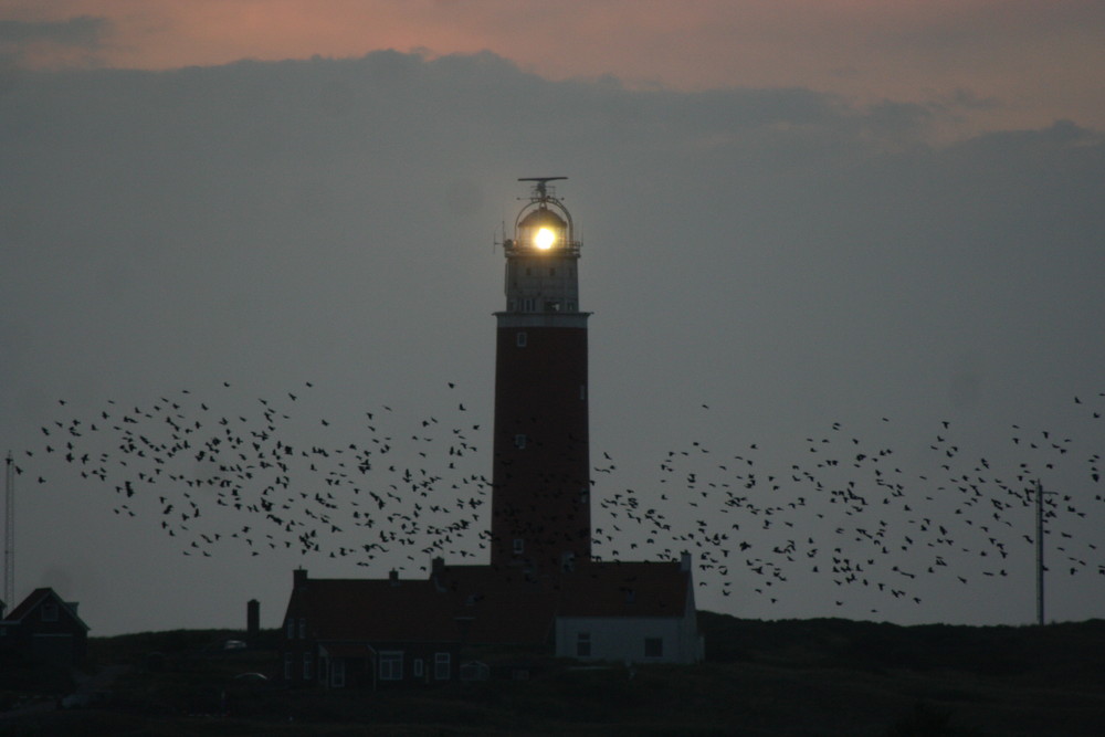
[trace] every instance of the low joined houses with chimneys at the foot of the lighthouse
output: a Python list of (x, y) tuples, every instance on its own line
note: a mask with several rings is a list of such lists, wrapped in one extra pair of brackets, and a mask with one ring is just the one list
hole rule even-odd
[(461, 656), (497, 650), (583, 661), (702, 660), (690, 556), (586, 562), (555, 575), (445, 566), (430, 577), (313, 579), (293, 573), (282, 676), (291, 686), (433, 685)]

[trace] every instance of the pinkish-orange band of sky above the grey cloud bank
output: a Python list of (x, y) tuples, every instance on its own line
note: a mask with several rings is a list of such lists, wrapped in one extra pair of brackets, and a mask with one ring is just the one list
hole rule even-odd
[[(1105, 4), (1094, 0), (56, 0), (0, 17), (103, 17), (107, 66), (493, 51), (551, 78), (631, 86), (807, 86), (857, 99), (967, 90), (1025, 122), (1105, 124)], [(55, 49), (53, 61), (72, 63)], [(85, 54), (86, 56), (87, 54)], [(82, 57), (83, 59), (83, 57)], [(49, 55), (36, 63), (49, 65)], [(1064, 110), (1066, 110), (1064, 113)]]

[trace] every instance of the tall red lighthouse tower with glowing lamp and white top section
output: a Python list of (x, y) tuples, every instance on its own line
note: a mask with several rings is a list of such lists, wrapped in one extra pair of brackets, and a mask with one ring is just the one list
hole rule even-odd
[(587, 318), (571, 215), (536, 177), (506, 255), (495, 313), (493, 566), (551, 571), (590, 560)]

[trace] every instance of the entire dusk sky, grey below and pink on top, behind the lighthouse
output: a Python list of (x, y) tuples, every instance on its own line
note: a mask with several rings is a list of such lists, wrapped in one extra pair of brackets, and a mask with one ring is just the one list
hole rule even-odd
[(566, 176), (599, 555), (687, 549), (738, 617), (1023, 624), (1041, 478), (1048, 618), (1102, 617), (1103, 40), (1096, 2), (0, 1), (17, 600), (274, 627), (296, 566), (478, 560), (497, 244)]

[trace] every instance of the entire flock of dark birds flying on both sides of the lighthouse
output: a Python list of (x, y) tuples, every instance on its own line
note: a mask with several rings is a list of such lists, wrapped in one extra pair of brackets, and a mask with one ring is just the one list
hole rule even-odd
[[(314, 392), (309, 382), (236, 412), (217, 410), (240, 400), (229, 383), (222, 391), (201, 400), (180, 390), (145, 407), (108, 401), (93, 415), (42, 427), (41, 446), (21, 463), (64, 460), (110, 493), (116, 514), (154, 516), (185, 555), (240, 545), (254, 556), (297, 550), (366, 567), (399, 558), (400, 568), (425, 570), (438, 555), (486, 561), (491, 483), (481, 468), (491, 463), (475, 444), (486, 431), (459, 397), (432, 415), (404, 420), (381, 404), (354, 422), (304, 419), (297, 410)], [(1075, 409), (1098, 420), (1092, 404), (1103, 397), (1075, 398)], [(920, 579), (962, 586), (1006, 577), (1011, 558), (1023, 568), (1035, 545), (1035, 484), (1063, 471), (1076, 488), (1044, 482), (1049, 568), (1105, 575), (1096, 540), (1064, 527), (1101, 512), (1097, 453), (1075, 457), (1071, 438), (1013, 425), (1020, 461), (1003, 467), (967, 453), (956, 430), (940, 423), (923, 472), (903, 471), (916, 468), (916, 457), (899, 463), (894, 450), (839, 422), (779, 467), (755, 443), (733, 453), (691, 442), (659, 460), (643, 491), (614, 488), (614, 459), (597, 454), (596, 557), (674, 559), (690, 550), (698, 583), (725, 597), (774, 603), (788, 581), (812, 575), (839, 587), (836, 606), (855, 588), (920, 603)], [(293, 440), (301, 435), (308, 440)], [(46, 473), (31, 475), (46, 483)]]

